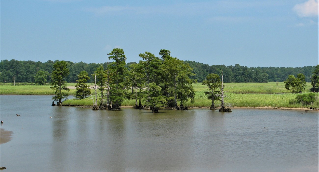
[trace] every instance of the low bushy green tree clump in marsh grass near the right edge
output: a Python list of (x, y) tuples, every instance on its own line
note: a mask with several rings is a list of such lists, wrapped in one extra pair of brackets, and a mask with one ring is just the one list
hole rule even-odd
[(305, 76), (302, 73), (297, 74), (297, 78), (289, 75), (288, 79), (284, 82), (287, 90), (292, 90), (292, 93), (300, 93), (306, 87)]

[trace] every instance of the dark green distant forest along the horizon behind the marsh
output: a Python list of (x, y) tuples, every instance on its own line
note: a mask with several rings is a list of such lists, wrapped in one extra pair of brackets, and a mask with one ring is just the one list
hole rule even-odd
[[(58, 60), (56, 60), (58, 61)], [(11, 59), (1, 60), (0, 62), (0, 82), (34, 82), (34, 76), (39, 70), (43, 70), (52, 73), (53, 64), (56, 61), (48, 60), (47, 62), (34, 62), (34, 61), (18, 61)], [(91, 77), (96, 68), (102, 65), (107, 68), (107, 63), (73, 63), (66, 61), (70, 74), (66, 78), (67, 82), (76, 82), (78, 74), (85, 70)], [(302, 73), (306, 77), (306, 82), (311, 82), (312, 72), (315, 66), (304, 66), (304, 67), (247, 67), (239, 64), (230, 65), (208, 65), (195, 61), (184, 61), (189, 63), (190, 67), (193, 68), (195, 76), (190, 77), (191, 79), (197, 79), (197, 82), (203, 82), (205, 77), (209, 73), (215, 73), (221, 76), (223, 70), (224, 82), (283, 82), (288, 78), (288, 75), (297, 76), (298, 73)], [(130, 70), (130, 64), (136, 62), (129, 62), (126, 67)], [(50, 82), (50, 76), (48, 76), (48, 82)], [(88, 82), (93, 82), (91, 77)]]

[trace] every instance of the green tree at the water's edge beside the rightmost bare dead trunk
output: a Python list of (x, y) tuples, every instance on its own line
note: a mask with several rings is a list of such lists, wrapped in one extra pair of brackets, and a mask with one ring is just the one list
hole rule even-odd
[(215, 73), (210, 73), (207, 75), (206, 80), (203, 81), (202, 85), (208, 86), (209, 91), (206, 91), (205, 94), (207, 95), (208, 99), (211, 99), (211, 110), (215, 110), (215, 100), (220, 99), (220, 90), (221, 88), (221, 80), (219, 75)]

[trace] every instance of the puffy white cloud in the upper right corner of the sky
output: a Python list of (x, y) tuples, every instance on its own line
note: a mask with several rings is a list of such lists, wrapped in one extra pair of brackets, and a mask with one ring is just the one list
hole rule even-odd
[(300, 17), (315, 17), (318, 16), (318, 0), (308, 0), (305, 3), (296, 4), (293, 10)]

